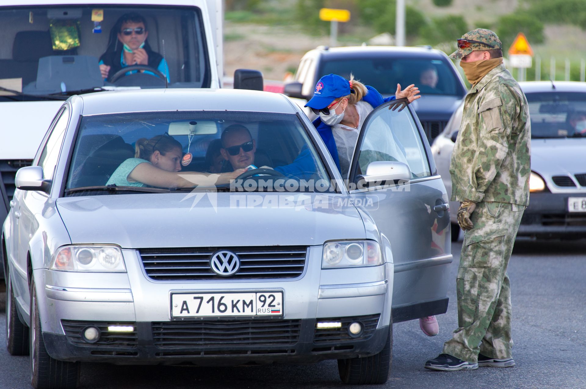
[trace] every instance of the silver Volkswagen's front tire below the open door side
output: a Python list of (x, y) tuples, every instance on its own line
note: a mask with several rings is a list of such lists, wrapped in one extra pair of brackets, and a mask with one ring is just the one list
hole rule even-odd
[(383, 349), (369, 357), (338, 359), (338, 373), (345, 384), (384, 384), (389, 380), (393, 359), (393, 321)]

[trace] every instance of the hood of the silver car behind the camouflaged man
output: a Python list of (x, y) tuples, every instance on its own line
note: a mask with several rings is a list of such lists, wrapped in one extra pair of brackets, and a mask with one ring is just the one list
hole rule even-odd
[(531, 170), (541, 175), (586, 173), (586, 139), (532, 139)]

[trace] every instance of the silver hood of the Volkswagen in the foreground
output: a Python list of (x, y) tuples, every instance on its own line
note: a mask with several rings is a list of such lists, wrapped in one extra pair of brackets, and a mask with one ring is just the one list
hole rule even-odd
[(322, 245), (326, 240), (366, 237), (356, 208), (333, 209), (338, 200), (346, 198), (344, 195), (225, 192), (199, 195), (203, 197), (186, 194), (68, 197), (57, 199), (57, 209), (71, 242), (113, 243), (123, 248), (311, 246)]

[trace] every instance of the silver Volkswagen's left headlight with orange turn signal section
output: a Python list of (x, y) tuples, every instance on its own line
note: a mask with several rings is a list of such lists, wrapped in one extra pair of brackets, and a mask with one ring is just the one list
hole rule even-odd
[(118, 246), (63, 246), (53, 254), (51, 270), (126, 273)]

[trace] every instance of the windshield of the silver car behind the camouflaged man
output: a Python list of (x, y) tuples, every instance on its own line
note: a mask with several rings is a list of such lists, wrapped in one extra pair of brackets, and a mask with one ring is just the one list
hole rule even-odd
[(586, 94), (527, 93), (532, 138), (586, 137)]

